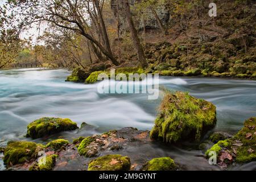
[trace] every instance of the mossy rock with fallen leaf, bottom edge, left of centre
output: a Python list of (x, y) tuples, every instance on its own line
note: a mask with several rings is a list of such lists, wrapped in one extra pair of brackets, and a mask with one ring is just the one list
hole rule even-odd
[(121, 155), (105, 155), (92, 160), (88, 171), (129, 171), (130, 158)]

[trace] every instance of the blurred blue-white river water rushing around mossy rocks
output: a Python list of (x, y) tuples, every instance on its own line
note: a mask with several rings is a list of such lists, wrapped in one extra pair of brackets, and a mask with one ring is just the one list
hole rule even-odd
[[(24, 137), (26, 126), (42, 117), (70, 118), (80, 126), (86, 122), (92, 130), (61, 133), (72, 141), (79, 136), (100, 134), (123, 127), (151, 130), (163, 98), (162, 88), (183, 90), (217, 106), (214, 131), (235, 134), (243, 121), (256, 116), (256, 81), (224, 78), (160, 77), (158, 100), (147, 94), (100, 94), (97, 85), (65, 82), (71, 72), (65, 69), (9, 69), (0, 71), (0, 146)], [(56, 137), (60, 137), (59, 135)], [(44, 139), (35, 142), (46, 143)], [(145, 154), (147, 148), (135, 151)], [(155, 156), (168, 155), (184, 169), (218, 169), (209, 166), (203, 152), (189, 148), (158, 146)], [(139, 156), (139, 155), (138, 155)], [(252, 162), (232, 169), (255, 169)], [(0, 169), (5, 169), (0, 159)]]

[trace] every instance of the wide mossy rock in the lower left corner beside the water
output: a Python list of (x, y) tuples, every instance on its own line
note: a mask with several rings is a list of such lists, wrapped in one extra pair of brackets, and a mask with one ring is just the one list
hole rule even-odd
[(35, 142), (9, 142), (5, 148), (3, 162), (7, 165), (22, 164), (32, 158), (35, 158), (37, 152), (40, 150), (43, 150), (42, 145), (38, 145)]

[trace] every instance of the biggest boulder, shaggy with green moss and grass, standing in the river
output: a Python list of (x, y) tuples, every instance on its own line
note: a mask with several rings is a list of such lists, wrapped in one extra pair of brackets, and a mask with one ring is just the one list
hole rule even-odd
[(150, 137), (166, 143), (199, 141), (215, 125), (216, 107), (213, 104), (188, 93), (167, 92)]

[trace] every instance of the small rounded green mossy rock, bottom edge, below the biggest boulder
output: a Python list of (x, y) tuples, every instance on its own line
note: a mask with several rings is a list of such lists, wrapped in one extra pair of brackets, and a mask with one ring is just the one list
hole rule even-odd
[(171, 158), (155, 158), (147, 162), (142, 170), (144, 171), (176, 171), (177, 167)]

